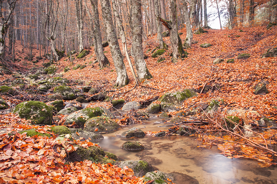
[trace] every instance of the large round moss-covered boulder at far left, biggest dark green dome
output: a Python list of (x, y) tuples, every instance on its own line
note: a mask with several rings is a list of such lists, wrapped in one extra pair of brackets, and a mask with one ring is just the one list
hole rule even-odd
[(22, 102), (12, 112), (14, 114), (18, 113), (20, 118), (31, 120), (33, 124), (52, 124), (52, 107), (40, 101)]

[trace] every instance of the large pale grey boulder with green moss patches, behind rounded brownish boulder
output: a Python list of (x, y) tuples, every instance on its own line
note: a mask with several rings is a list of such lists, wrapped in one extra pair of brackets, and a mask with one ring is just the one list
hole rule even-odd
[[(96, 116), (106, 116), (106, 117), (111, 117), (109, 116), (108, 110), (106, 110), (104, 108), (85, 108), (85, 109), (81, 109), (78, 110), (76, 112), (73, 112), (72, 114), (70, 114), (69, 116), (67, 116), (65, 118), (65, 122), (64, 124), (73, 124), (73, 122), (75, 122), (75, 124), (81, 128), (84, 127), (85, 122), (93, 117)], [(111, 113), (111, 112), (110, 112)]]

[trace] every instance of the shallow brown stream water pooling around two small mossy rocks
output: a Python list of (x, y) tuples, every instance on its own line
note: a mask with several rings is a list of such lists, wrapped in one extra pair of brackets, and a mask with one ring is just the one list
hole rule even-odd
[[(216, 147), (197, 148), (195, 137), (187, 136), (145, 136), (124, 138), (121, 133), (132, 127), (143, 131), (159, 131), (169, 127), (159, 123), (161, 119), (151, 118), (150, 122), (123, 127), (117, 131), (103, 134), (100, 146), (116, 154), (120, 160), (147, 160), (152, 166), (166, 173), (179, 172), (190, 175), (203, 184), (255, 183), (277, 184), (277, 167), (261, 168), (258, 162), (245, 159), (229, 159), (220, 155)], [(120, 146), (128, 140), (139, 141), (146, 147), (141, 151), (126, 151)]]

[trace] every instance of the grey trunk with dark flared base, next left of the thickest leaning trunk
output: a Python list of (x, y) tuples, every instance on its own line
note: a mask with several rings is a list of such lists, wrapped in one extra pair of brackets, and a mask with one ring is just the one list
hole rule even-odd
[[(100, 23), (99, 23), (99, 13), (98, 13), (98, 1), (97, 0), (90, 0), (91, 6), (93, 9), (93, 28), (94, 28), (94, 33), (96, 37), (96, 43), (97, 43), (97, 52), (99, 55), (98, 58), (98, 63), (99, 63), (99, 68), (104, 68), (110, 64), (108, 58), (104, 55), (103, 51), (103, 46), (102, 46), (102, 35), (100, 32)], [(111, 20), (112, 21), (112, 20)]]

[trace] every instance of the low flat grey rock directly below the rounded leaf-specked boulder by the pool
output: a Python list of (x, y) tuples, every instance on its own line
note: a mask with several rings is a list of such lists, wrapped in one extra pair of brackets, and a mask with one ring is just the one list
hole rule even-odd
[(90, 141), (97, 141), (100, 139), (104, 139), (103, 135), (100, 133), (94, 133), (94, 132), (88, 132), (84, 131), (83, 129), (74, 129), (70, 128), (70, 131), (72, 133), (72, 137), (75, 140), (79, 140), (80, 137), (82, 137), (82, 140), (86, 141), (89, 139)]

